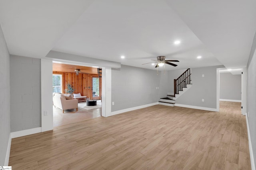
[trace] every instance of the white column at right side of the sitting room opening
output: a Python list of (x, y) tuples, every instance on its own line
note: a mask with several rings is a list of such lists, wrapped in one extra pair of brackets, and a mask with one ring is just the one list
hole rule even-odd
[(102, 116), (111, 116), (111, 68), (102, 67)]

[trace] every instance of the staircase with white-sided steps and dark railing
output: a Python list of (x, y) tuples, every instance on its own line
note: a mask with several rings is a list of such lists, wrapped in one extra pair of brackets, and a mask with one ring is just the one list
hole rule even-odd
[(166, 98), (161, 98), (159, 104), (166, 106), (175, 106), (175, 100), (191, 88), (190, 68), (182, 73), (177, 79), (174, 79), (174, 93), (168, 93)]

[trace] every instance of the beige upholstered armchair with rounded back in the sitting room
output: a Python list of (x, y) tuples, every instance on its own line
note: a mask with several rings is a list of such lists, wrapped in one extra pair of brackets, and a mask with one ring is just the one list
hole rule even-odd
[(54, 107), (58, 107), (62, 109), (62, 113), (66, 109), (76, 109), (78, 111), (78, 100), (77, 99), (69, 99), (68, 96), (64, 96), (61, 93), (54, 93), (53, 94), (53, 105)]

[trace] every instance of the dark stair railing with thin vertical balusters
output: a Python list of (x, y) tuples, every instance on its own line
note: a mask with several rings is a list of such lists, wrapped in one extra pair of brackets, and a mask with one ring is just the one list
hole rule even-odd
[(179, 94), (187, 84), (190, 84), (190, 68), (188, 68), (184, 73), (182, 73), (177, 79), (174, 79), (174, 97), (175, 94)]

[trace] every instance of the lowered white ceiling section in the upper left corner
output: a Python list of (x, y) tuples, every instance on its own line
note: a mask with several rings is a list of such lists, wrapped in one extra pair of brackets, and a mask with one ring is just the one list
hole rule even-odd
[(0, 24), (12, 55), (45, 57), (93, 0), (0, 0)]

